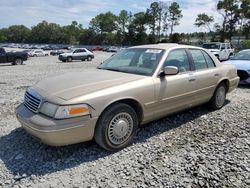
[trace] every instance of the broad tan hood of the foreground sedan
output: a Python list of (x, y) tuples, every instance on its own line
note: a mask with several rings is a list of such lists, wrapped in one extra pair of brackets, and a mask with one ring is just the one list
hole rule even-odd
[[(42, 90), (48, 97), (55, 96), (70, 100), (143, 78), (145, 76), (96, 69), (48, 77), (38, 82), (34, 88)], [(43, 97), (46, 98), (47, 96)]]

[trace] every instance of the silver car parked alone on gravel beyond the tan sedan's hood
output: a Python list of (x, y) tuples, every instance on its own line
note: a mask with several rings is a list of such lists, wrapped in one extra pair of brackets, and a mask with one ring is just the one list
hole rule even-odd
[(91, 61), (94, 58), (94, 54), (86, 48), (76, 48), (69, 52), (60, 54), (58, 59), (62, 62), (71, 62), (73, 60), (88, 60)]

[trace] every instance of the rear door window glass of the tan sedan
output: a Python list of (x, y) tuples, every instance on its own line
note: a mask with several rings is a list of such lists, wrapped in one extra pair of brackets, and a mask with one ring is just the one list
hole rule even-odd
[(207, 67), (207, 62), (206, 62), (201, 50), (190, 49), (189, 51), (190, 51), (190, 53), (192, 55), (196, 70), (201, 70), (201, 69), (207, 69), (208, 68)]

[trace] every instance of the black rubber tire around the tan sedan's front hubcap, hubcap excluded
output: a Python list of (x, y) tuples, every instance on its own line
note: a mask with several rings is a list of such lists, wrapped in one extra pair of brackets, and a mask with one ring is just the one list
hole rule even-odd
[[(130, 114), (130, 116), (132, 117), (133, 131), (130, 137), (124, 143), (120, 145), (115, 145), (109, 141), (108, 127), (113, 117), (122, 112), (126, 112)], [(134, 109), (127, 104), (116, 103), (110, 106), (107, 110), (105, 110), (103, 114), (101, 115), (100, 119), (98, 120), (96, 131), (95, 131), (95, 140), (100, 146), (102, 146), (103, 148), (107, 150), (118, 151), (120, 149), (127, 147), (128, 145), (132, 143), (133, 137), (136, 133), (137, 128), (138, 128), (138, 117)]]

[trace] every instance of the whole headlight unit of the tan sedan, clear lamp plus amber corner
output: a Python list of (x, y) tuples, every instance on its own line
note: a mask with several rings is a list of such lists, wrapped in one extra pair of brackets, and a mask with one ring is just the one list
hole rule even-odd
[(49, 102), (42, 105), (40, 112), (55, 119), (67, 119), (90, 114), (89, 107), (86, 104), (58, 106)]

